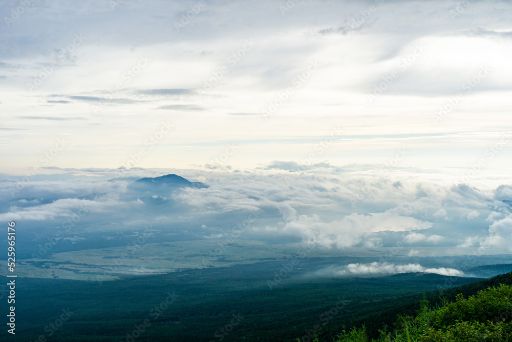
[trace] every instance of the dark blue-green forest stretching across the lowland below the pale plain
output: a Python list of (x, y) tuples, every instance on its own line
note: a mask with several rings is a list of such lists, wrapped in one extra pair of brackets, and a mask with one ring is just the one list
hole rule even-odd
[(102, 283), (17, 278), (16, 337), (200, 342), (312, 341), (317, 335), (332, 341), (356, 327), (371, 339), (385, 326), (392, 333), (399, 315), (414, 317), (424, 300), (436, 308), (458, 294), (512, 285), (510, 274), (482, 280), (408, 273), (300, 279), (270, 289), (268, 272), (262, 263)]

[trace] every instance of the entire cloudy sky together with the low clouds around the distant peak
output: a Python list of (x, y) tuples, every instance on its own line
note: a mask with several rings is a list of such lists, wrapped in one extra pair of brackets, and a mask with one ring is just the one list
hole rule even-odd
[[(508, 250), (507, 1), (0, 5), (3, 220)], [(127, 195), (167, 173), (210, 187)]]

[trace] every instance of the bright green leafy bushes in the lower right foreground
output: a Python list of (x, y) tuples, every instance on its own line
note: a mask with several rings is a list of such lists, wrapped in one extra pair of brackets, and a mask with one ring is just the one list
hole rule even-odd
[[(512, 342), (512, 286), (478, 291), (453, 303), (429, 308), (423, 300), (415, 317), (398, 316), (393, 332), (380, 331), (372, 342)], [(337, 342), (368, 342), (365, 327), (342, 331)]]

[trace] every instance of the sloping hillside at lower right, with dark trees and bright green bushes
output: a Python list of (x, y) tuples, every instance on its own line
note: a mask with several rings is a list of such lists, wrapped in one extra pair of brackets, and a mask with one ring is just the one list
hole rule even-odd
[[(424, 299), (416, 314), (408, 312), (412, 306), (366, 317), (373, 318), (373, 325), (382, 325), (379, 336), (371, 338), (365, 325), (343, 330), (337, 342), (462, 342), (462, 341), (512, 341), (512, 273), (450, 289), (434, 301)], [(458, 294), (457, 294), (458, 293)], [(396, 309), (394, 328), (386, 325)], [(372, 327), (374, 329), (374, 327)], [(318, 341), (318, 339), (315, 339)]]

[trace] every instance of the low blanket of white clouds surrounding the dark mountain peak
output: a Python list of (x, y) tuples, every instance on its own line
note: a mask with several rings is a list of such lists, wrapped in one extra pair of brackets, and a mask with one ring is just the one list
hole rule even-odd
[[(44, 231), (86, 213), (73, 224), (75, 231), (153, 225), (169, 233), (187, 230), (198, 237), (226, 238), (255, 214), (243, 238), (313, 242), (336, 250), (403, 247), (411, 248), (411, 255), (417, 253), (414, 247), (443, 247), (447, 253), (473, 248), (485, 254), (510, 248), (512, 218), (502, 186), (450, 185), (442, 178), (424, 180), (416, 171), (369, 170), (73, 169), (74, 175), (46, 176), (52, 180), (4, 176), (0, 218), (30, 222)], [(158, 193), (129, 187), (138, 178), (168, 173), (209, 187)]]

